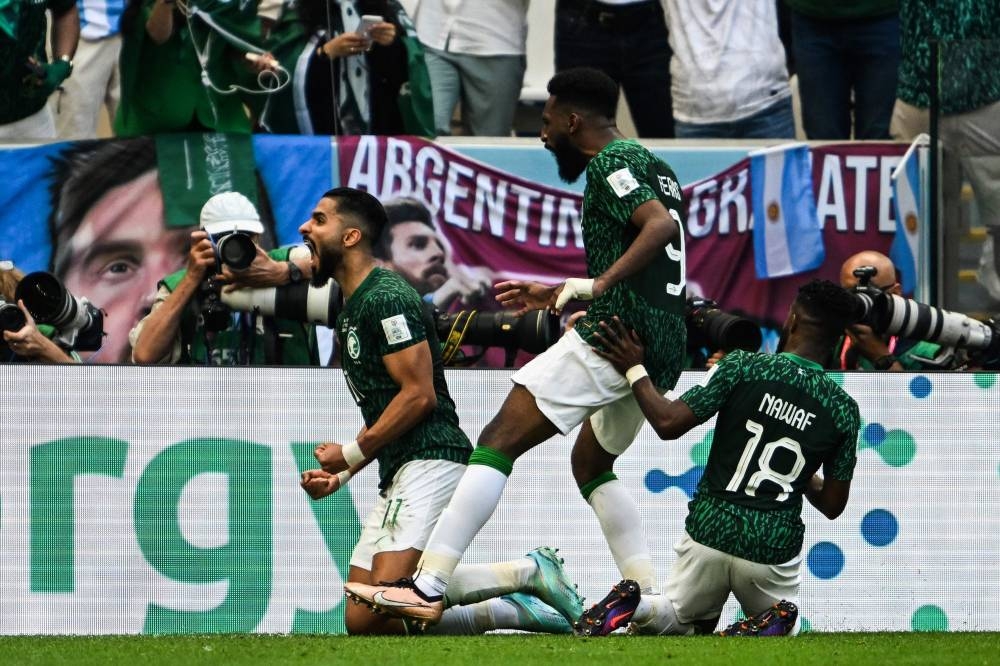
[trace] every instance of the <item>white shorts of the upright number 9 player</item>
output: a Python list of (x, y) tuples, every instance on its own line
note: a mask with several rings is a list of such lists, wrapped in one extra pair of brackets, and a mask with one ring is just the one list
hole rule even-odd
[(564, 435), (589, 417), (601, 448), (614, 455), (628, 449), (645, 421), (628, 381), (572, 329), (511, 380), (531, 391)]

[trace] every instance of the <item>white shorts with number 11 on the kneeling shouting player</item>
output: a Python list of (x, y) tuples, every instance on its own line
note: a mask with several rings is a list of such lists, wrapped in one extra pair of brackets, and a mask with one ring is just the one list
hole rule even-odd
[(423, 550), (464, 472), (465, 465), (450, 460), (411, 460), (400, 467), (365, 518), (351, 566), (371, 571), (376, 553)]

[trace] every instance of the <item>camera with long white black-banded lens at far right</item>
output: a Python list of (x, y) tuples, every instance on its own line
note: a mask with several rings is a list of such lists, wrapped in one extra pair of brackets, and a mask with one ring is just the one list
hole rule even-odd
[(989, 356), (1000, 353), (1000, 327), (995, 320), (983, 323), (958, 312), (888, 294), (871, 285), (877, 272), (874, 266), (854, 270), (858, 284), (852, 292), (857, 299), (859, 323), (883, 335), (975, 349)]

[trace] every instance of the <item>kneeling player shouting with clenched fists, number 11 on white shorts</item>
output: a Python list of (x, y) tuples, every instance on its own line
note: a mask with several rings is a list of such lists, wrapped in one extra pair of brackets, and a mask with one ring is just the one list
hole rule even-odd
[[(434, 326), (420, 297), (402, 277), (376, 265), (372, 245), (385, 224), (375, 197), (341, 187), (324, 194), (299, 229), (311, 251), (313, 284), (334, 278), (340, 285), (341, 365), (365, 422), (355, 441), (316, 448), (326, 470), (306, 471), (302, 487), (320, 499), (369, 461), (379, 463), (379, 499), (351, 555), (348, 580), (356, 583), (413, 574), (472, 448), (458, 427)], [(568, 633), (569, 621), (583, 610), (551, 548), (507, 563), (463, 567), (460, 578), (449, 595), (456, 607), (438, 628), (442, 632)], [(345, 623), (352, 634), (406, 630), (398, 619), (353, 604)]]

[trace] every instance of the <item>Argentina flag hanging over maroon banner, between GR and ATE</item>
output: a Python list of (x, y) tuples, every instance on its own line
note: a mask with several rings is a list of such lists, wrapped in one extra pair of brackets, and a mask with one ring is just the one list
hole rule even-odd
[(818, 268), (826, 252), (816, 216), (808, 146), (785, 144), (750, 153), (750, 195), (757, 278)]

